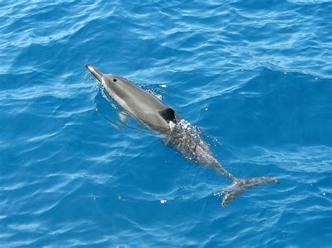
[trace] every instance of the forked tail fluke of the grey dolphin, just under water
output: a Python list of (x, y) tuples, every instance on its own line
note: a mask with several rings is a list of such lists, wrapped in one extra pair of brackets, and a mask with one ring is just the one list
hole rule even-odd
[(231, 200), (234, 200), (236, 196), (243, 194), (247, 189), (252, 189), (264, 184), (279, 184), (279, 182), (277, 178), (272, 177), (235, 179), (233, 180), (233, 184), (224, 191), (225, 196), (223, 196), (223, 202), (221, 205), (226, 207)]

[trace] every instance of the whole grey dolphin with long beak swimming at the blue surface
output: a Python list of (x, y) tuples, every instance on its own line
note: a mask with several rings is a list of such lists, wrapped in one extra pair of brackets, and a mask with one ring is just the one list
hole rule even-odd
[(109, 95), (130, 112), (135, 119), (164, 134), (167, 137), (165, 139), (167, 145), (177, 149), (186, 159), (212, 168), (233, 181), (233, 184), (224, 191), (225, 196), (221, 203), (223, 207), (226, 207), (230, 200), (234, 200), (236, 196), (244, 193), (247, 189), (262, 184), (279, 183), (276, 178), (271, 177), (237, 179), (216, 160), (209, 145), (200, 137), (195, 127), (180, 119), (172, 108), (125, 78), (103, 74), (89, 64), (85, 66), (109, 92)]

